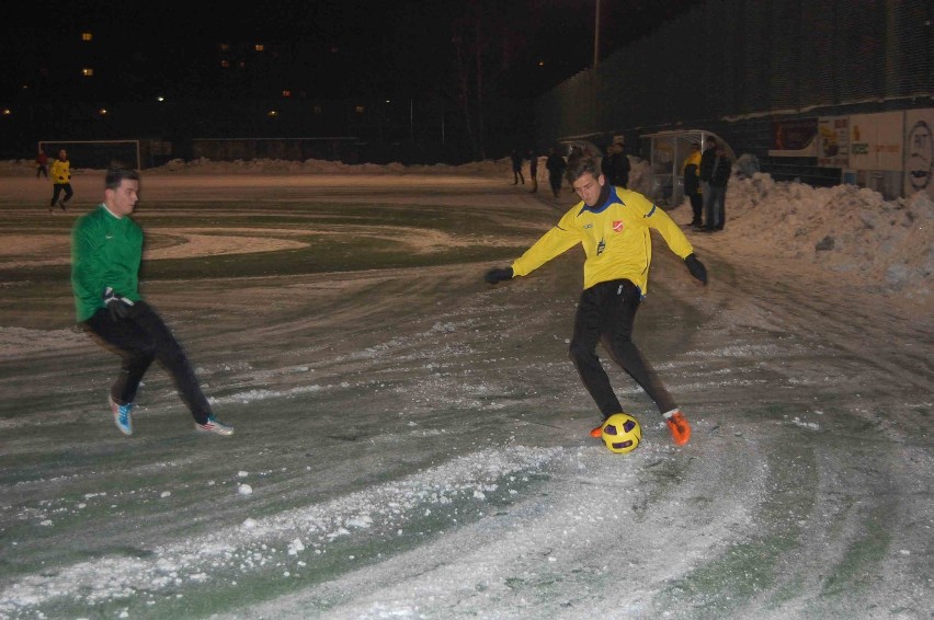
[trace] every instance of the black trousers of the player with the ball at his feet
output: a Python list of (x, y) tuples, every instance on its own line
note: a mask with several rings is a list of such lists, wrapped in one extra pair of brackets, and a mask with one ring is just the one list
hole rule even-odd
[(639, 287), (628, 279), (600, 283), (581, 294), (569, 354), (604, 418), (624, 410), (596, 356), (597, 343), (602, 343), (610, 357), (646, 390), (659, 407), (659, 413), (676, 406), (633, 342), (633, 323), (641, 297)]

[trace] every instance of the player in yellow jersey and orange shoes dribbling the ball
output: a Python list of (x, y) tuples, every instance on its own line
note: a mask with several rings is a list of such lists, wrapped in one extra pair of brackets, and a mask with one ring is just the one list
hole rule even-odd
[[(603, 420), (620, 413), (623, 406), (596, 356), (596, 344), (602, 342), (610, 356), (656, 402), (674, 443), (683, 446), (691, 438), (691, 426), (631, 340), (636, 310), (648, 291), (651, 230), (661, 234), (671, 251), (684, 260), (691, 275), (705, 285), (707, 269), (668, 214), (641, 194), (606, 183), (592, 158), (582, 158), (568, 169), (567, 176), (581, 202), (512, 266), (491, 269), (485, 279), (497, 284), (528, 275), (578, 243), (582, 244), (586, 255), (584, 290), (574, 318), (571, 360)], [(591, 430), (593, 437), (600, 434), (600, 426)]]

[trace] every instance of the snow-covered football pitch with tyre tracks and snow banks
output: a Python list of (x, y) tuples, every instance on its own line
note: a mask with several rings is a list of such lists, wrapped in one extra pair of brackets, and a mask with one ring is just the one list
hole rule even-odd
[[(767, 175), (657, 240), (636, 341), (694, 427), (630, 455), (567, 356), (574, 249), (482, 282), (569, 208), (506, 161), (146, 171), (144, 295), (232, 437), (73, 328), (68, 213), (0, 162), (0, 618), (934, 618), (934, 205)], [(634, 185), (645, 181), (634, 169)], [(685, 223), (690, 208), (670, 211)]]

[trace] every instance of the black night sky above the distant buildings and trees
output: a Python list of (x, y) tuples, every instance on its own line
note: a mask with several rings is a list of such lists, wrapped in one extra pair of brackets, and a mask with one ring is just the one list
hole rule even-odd
[[(472, 55), (479, 15), (485, 78), (508, 96), (537, 95), (593, 61), (596, 0), (282, 0), (49, 2), (7, 20), (0, 97), (37, 74), (55, 81), (75, 62), (61, 54), (94, 35), (92, 61), (105, 93), (148, 97), (214, 88), (217, 44), (265, 43), (257, 89), (314, 96), (432, 96), (457, 77), (453, 39)], [(703, 0), (601, 0), (601, 56), (625, 47)], [(539, 61), (544, 65), (539, 66)], [(216, 71), (214, 71), (216, 72)], [(48, 85), (48, 84), (47, 84)], [(102, 87), (103, 88), (103, 87)], [(61, 96), (68, 93), (58, 92)], [(203, 94), (203, 93), (202, 93)]]

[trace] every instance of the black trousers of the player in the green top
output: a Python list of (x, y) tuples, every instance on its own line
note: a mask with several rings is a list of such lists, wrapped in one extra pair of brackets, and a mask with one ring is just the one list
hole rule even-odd
[(84, 321), (84, 325), (114, 347), (123, 359), (121, 372), (111, 387), (111, 397), (117, 403), (129, 403), (136, 399), (143, 376), (152, 361), (158, 359), (171, 375), (195, 422), (207, 422), (210, 405), (201, 391), (185, 352), (162, 319), (145, 301), (137, 301), (132, 317), (126, 319), (114, 320), (110, 310), (102, 308)]

